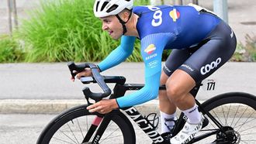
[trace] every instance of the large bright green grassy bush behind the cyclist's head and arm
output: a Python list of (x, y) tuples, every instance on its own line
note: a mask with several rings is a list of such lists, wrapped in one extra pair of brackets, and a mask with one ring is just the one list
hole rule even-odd
[[(148, 1), (137, 1), (137, 5)], [(26, 43), (28, 62), (99, 61), (119, 41), (102, 32), (102, 22), (93, 14), (94, 0), (42, 1), (22, 22), (19, 39)], [(141, 61), (140, 44), (128, 61)]]

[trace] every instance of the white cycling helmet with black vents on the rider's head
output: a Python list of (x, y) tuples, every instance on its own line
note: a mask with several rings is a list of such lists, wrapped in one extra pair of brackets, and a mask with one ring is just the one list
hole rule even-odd
[(96, 17), (117, 15), (123, 9), (132, 9), (133, 0), (95, 0), (93, 12)]

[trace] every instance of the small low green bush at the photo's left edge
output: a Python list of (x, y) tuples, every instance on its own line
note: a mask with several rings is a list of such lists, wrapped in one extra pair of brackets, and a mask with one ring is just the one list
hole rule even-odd
[(23, 50), (9, 36), (0, 37), (0, 63), (14, 63), (24, 59)]

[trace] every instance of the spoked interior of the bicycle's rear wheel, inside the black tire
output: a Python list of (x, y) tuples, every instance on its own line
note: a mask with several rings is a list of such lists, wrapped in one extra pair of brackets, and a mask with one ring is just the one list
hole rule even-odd
[[(206, 108), (207, 109), (207, 108)], [(223, 133), (217, 132), (216, 135), (212, 135), (209, 138), (206, 138), (205, 142), (214, 142), (214, 143), (254, 143), (256, 142), (256, 112), (254, 108), (244, 104), (226, 104), (220, 105), (216, 108), (209, 108), (209, 113), (213, 115), (214, 118), (221, 125), (224, 125), (224, 128), (227, 129), (227, 135), (230, 135), (232, 142), (227, 142), (227, 137)], [(206, 116), (206, 118), (208, 118)], [(218, 129), (218, 127), (209, 119), (209, 124), (199, 132), (199, 135), (202, 135), (206, 132), (213, 132)], [(219, 133), (219, 134), (218, 134)], [(222, 141), (222, 142), (221, 142)], [(201, 142), (201, 141), (200, 141)]]

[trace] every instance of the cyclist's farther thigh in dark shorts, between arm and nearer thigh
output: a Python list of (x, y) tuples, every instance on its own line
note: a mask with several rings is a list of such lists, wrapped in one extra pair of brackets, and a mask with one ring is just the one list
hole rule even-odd
[(171, 54), (164, 63), (164, 74), (171, 76), (171, 74), (178, 69), (190, 57), (189, 50), (171, 50)]

